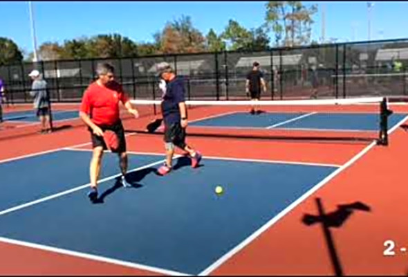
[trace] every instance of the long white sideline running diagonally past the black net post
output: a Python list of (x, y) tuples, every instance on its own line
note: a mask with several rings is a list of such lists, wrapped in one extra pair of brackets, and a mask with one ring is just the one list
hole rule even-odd
[[(406, 116), (404, 119), (400, 120), (400, 122), (398, 124), (396, 124), (394, 127), (392, 127), (391, 129), (389, 129), (389, 131), (387, 133), (391, 134), (392, 132), (394, 132), (400, 126), (400, 124), (405, 122), (405, 120), (408, 120), (408, 116)], [(261, 235), (263, 232), (265, 232), (267, 229), (269, 229), (273, 224), (275, 224), (277, 221), (279, 221), (282, 217), (284, 217), (286, 214), (288, 214), (290, 211), (292, 211), (293, 208), (295, 208), (300, 203), (302, 203), (306, 198), (310, 197), (310, 195), (313, 195), (313, 193), (315, 193), (317, 190), (319, 190), (319, 188), (322, 188), (325, 184), (328, 183), (328, 181), (331, 181), (331, 179), (333, 179), (336, 175), (339, 175), (340, 172), (342, 172), (346, 168), (349, 168), (349, 166), (351, 166), (353, 163), (355, 163), (355, 161), (357, 161), (362, 156), (364, 156), (364, 154), (369, 152), (369, 150), (371, 150), (371, 148), (373, 148), (375, 146), (375, 144), (376, 144), (376, 141), (373, 141), (372, 143), (367, 145), (366, 148), (364, 148), (362, 151), (360, 151), (358, 154), (356, 154), (349, 161), (344, 163), (343, 166), (341, 166), (340, 168), (337, 168), (337, 170), (332, 172), (330, 175), (328, 175), (326, 178), (324, 178), (322, 181), (320, 181), (318, 184), (316, 184), (313, 188), (310, 188), (310, 190), (308, 190), (304, 195), (302, 195), (301, 197), (296, 199), (295, 202), (293, 202), (292, 204), (287, 206), (283, 211), (278, 213), (270, 221), (266, 222), (266, 224), (261, 226), (260, 229), (258, 229), (254, 233), (252, 233), (252, 235), (250, 235), (245, 240), (243, 240), (243, 242), (241, 242), (236, 247), (234, 247), (233, 249), (231, 249), (230, 251), (225, 253), (223, 256), (221, 256), (221, 258), (216, 260), (216, 262), (214, 262), (212, 265), (210, 265), (210, 267), (207, 267), (205, 270), (201, 271), (201, 273), (198, 274), (198, 276), (207, 276), (207, 275), (211, 274), (212, 271), (214, 271), (215, 269), (217, 269), (218, 267), (223, 265), (224, 262), (226, 262), (228, 259), (230, 259), (232, 256), (234, 256), (236, 253), (241, 251), (243, 248), (245, 248), (253, 240), (258, 238), (259, 235)]]

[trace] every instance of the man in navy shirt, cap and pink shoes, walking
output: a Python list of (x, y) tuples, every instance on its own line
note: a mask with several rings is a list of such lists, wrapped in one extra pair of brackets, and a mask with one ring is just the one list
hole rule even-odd
[(185, 143), (185, 128), (187, 127), (187, 107), (185, 105), (185, 88), (181, 78), (176, 76), (167, 62), (156, 66), (160, 77), (159, 87), (163, 92), (161, 109), (165, 124), (166, 161), (158, 169), (160, 175), (171, 171), (171, 162), (174, 155), (174, 145), (184, 150), (192, 159), (192, 167), (196, 168), (201, 161), (201, 153)]

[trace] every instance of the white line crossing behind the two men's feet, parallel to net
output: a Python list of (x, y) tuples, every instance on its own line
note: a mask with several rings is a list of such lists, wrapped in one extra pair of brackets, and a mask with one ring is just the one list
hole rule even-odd
[[(71, 151), (84, 151), (84, 152), (91, 152), (91, 149), (80, 149), (80, 148), (65, 148), (65, 150)], [(128, 154), (135, 154), (135, 155), (152, 155), (152, 156), (165, 156), (165, 153), (155, 153), (155, 152), (136, 152), (136, 151), (127, 151)], [(281, 160), (263, 160), (263, 159), (242, 159), (242, 158), (232, 158), (232, 157), (215, 157), (215, 156), (206, 156), (203, 155), (203, 160), (205, 159), (212, 159), (212, 160), (223, 160), (223, 161), (245, 161), (250, 163), (284, 163), (284, 164), (292, 164), (292, 165), (299, 165), (299, 166), (326, 166), (326, 167), (333, 167), (333, 168), (340, 168), (341, 165), (334, 164), (334, 163), (308, 163), (303, 161), (281, 161)]]

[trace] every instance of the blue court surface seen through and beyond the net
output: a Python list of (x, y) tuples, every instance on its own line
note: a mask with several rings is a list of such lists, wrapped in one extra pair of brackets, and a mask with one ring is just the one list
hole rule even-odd
[[(396, 125), (407, 114), (389, 116), (389, 128)], [(325, 113), (263, 113), (252, 115), (249, 112), (225, 114), (190, 123), (196, 127), (252, 127), (277, 129), (312, 130), (351, 130), (378, 131), (378, 114), (325, 114)]]

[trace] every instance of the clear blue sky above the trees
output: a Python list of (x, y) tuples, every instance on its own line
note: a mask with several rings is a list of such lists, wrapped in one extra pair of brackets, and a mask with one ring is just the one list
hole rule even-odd
[[(326, 38), (337, 42), (368, 39), (367, 1), (304, 2), (319, 4), (314, 16), (313, 39), (322, 35), (322, 7), (325, 10)], [(408, 1), (373, 1), (371, 39), (408, 37)], [(65, 39), (106, 33), (120, 33), (136, 42), (151, 42), (166, 21), (181, 15), (192, 17), (193, 25), (205, 35), (216, 33), (229, 19), (245, 28), (263, 23), (266, 1), (33, 1), (37, 42), (64, 42)], [(33, 51), (27, 1), (0, 2), (0, 37), (13, 39), (26, 52)]]

